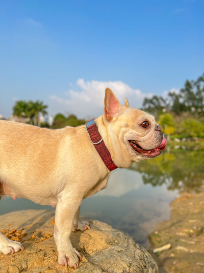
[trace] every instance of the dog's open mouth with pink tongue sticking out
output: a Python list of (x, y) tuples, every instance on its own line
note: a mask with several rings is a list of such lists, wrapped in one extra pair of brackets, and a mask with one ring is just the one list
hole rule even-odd
[(145, 150), (145, 149), (142, 149), (142, 147), (140, 147), (135, 140), (128, 140), (128, 141), (133, 150), (135, 150), (136, 152), (142, 153), (144, 156), (148, 156), (148, 157), (155, 157), (159, 155), (161, 151), (165, 149), (165, 146), (167, 143), (166, 139), (164, 138), (158, 147), (153, 148), (152, 150)]

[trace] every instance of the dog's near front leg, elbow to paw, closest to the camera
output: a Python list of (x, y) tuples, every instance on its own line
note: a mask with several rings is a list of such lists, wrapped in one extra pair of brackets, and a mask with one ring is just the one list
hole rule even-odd
[(72, 194), (60, 194), (56, 205), (54, 240), (57, 246), (58, 263), (66, 267), (78, 267), (81, 255), (73, 248), (70, 242), (72, 225), (75, 214), (82, 198)]

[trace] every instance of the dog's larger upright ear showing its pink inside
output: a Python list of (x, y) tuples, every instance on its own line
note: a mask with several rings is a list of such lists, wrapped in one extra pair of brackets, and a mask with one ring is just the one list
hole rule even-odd
[(113, 94), (113, 92), (106, 88), (105, 90), (105, 117), (107, 120), (112, 120), (114, 115), (118, 114), (122, 109), (122, 105), (119, 103), (117, 97)]

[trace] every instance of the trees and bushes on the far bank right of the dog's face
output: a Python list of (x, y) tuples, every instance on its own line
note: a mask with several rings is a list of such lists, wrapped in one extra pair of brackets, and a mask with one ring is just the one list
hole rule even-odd
[(197, 80), (186, 80), (178, 91), (167, 96), (145, 98), (142, 110), (153, 114), (167, 138), (204, 138), (204, 73)]

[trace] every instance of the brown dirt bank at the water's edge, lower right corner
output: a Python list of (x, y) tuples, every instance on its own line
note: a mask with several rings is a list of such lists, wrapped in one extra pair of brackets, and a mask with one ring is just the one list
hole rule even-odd
[[(168, 221), (150, 235), (160, 273), (204, 273), (204, 192), (182, 194), (171, 203)], [(170, 243), (157, 254), (153, 249)]]

